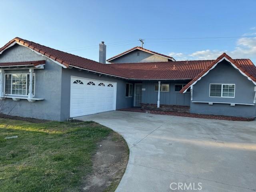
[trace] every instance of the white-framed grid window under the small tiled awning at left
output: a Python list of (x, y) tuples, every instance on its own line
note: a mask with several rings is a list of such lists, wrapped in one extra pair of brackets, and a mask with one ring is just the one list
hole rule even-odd
[[(6, 74), (5, 94), (26, 96), (29, 93), (29, 74)], [(32, 80), (32, 94), (35, 92), (35, 74)]]

